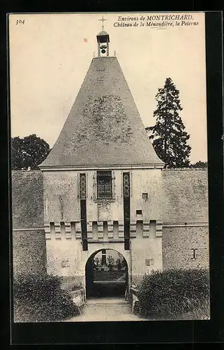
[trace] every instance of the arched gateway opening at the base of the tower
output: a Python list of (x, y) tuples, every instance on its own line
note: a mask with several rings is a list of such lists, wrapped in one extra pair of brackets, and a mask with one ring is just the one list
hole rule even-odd
[(128, 264), (118, 251), (100, 249), (87, 260), (85, 276), (87, 298), (124, 296), (128, 286)]

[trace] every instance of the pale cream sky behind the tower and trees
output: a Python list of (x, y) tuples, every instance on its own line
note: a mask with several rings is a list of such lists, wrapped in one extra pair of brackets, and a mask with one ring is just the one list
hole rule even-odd
[[(192, 18), (183, 25), (182, 20), (147, 20), (148, 15), (167, 13), (103, 13), (103, 17), (110, 55), (115, 51), (145, 127), (156, 121), (158, 87), (172, 78), (180, 91), (180, 116), (190, 134), (194, 163), (207, 161), (205, 30), (204, 13), (186, 14)], [(133, 17), (138, 20), (130, 20)], [(36, 134), (54, 145), (91, 59), (97, 56), (100, 19), (101, 13), (10, 15), (12, 137)], [(147, 22), (165, 27), (147, 26)], [(130, 23), (131, 27), (122, 26)]]

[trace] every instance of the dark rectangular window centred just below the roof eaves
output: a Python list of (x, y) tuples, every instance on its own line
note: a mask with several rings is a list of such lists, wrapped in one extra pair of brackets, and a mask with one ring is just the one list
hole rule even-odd
[(97, 199), (112, 199), (112, 172), (96, 172), (97, 181)]

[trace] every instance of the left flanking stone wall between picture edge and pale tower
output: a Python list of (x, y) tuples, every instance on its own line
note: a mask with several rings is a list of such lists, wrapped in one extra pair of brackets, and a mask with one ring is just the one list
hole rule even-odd
[(43, 175), (12, 172), (13, 274), (46, 272)]

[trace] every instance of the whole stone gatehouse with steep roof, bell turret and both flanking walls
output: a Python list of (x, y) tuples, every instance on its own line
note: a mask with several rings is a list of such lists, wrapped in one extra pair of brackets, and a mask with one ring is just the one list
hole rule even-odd
[(14, 272), (86, 286), (87, 262), (105, 249), (123, 255), (128, 284), (152, 269), (208, 267), (207, 170), (163, 169), (109, 35), (97, 42), (40, 171), (13, 172)]

